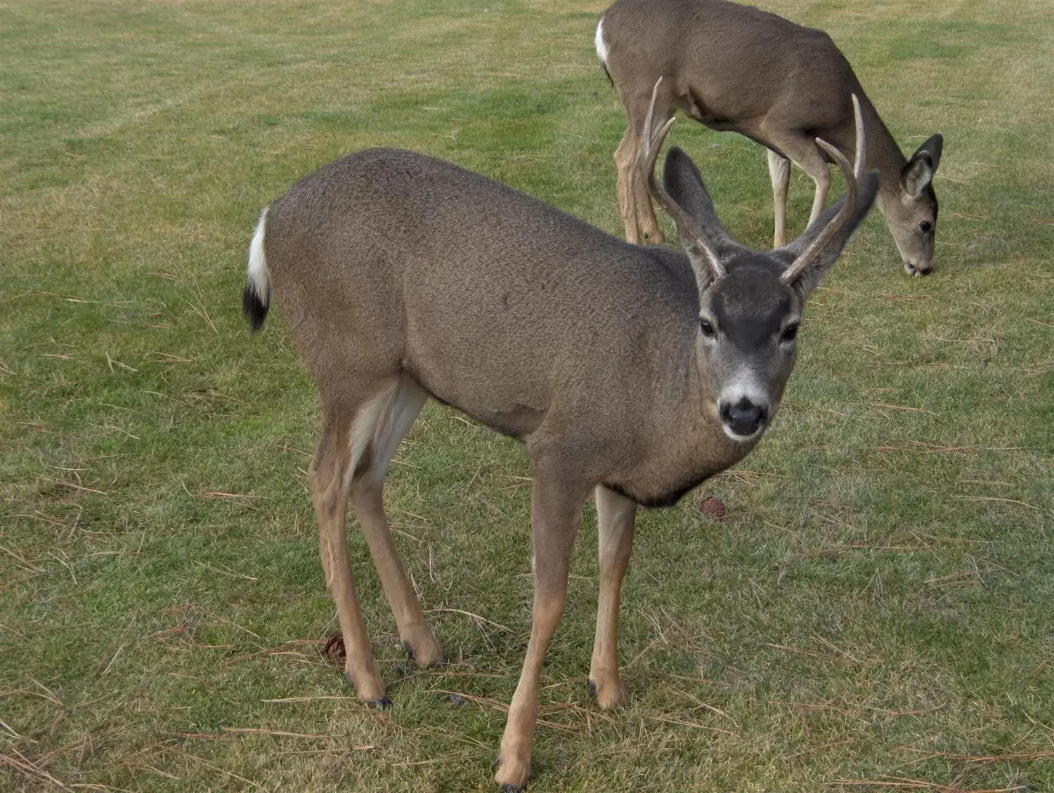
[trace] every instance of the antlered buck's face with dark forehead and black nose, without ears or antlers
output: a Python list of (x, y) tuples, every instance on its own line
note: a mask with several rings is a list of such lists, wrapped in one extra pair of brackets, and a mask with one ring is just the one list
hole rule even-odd
[(700, 295), (698, 355), (721, 428), (731, 440), (761, 437), (796, 359), (801, 298), (770, 261), (733, 264)]

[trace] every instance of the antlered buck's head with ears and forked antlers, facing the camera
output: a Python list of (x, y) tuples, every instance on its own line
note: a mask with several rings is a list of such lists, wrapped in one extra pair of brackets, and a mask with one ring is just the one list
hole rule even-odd
[(696, 354), (699, 371), (715, 397), (711, 410), (733, 441), (750, 443), (775, 415), (794, 369), (805, 300), (871, 209), (878, 190), (878, 172), (863, 173), (863, 121), (854, 96), (855, 163), (850, 164), (838, 150), (817, 139), (841, 168), (845, 195), (790, 244), (754, 251), (725, 232), (699, 171), (680, 148), (670, 148), (663, 184), (657, 181), (656, 159), (674, 123), (671, 118), (656, 128), (652, 119), (661, 82), (659, 78), (651, 95), (641, 168), (652, 198), (677, 224), (696, 276)]

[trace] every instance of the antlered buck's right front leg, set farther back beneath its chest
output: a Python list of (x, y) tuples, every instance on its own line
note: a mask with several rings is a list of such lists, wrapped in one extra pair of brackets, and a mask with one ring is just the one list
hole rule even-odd
[(633, 548), (637, 503), (603, 485), (597, 488), (597, 544), (600, 551), (600, 597), (597, 636), (589, 665), (589, 691), (601, 710), (626, 703), (619, 677), (619, 595)]

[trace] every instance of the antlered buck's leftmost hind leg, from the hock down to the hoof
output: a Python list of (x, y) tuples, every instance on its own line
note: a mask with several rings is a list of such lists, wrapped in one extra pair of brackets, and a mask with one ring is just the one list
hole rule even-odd
[(385, 683), (377, 671), (370, 639), (363, 625), (355, 582), (348, 554), (347, 508), (352, 460), (348, 434), (327, 430), (318, 453), (308, 470), (312, 500), (318, 517), (318, 548), (326, 584), (336, 603), (337, 619), (347, 652), (345, 674), (358, 696), (368, 705), (388, 707)]

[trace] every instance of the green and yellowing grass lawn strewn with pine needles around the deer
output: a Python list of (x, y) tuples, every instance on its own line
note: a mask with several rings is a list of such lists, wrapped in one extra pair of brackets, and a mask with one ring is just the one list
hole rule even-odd
[[(534, 791), (1054, 790), (1054, 20), (1042, 0), (766, 3), (839, 42), (904, 150), (940, 128), (935, 274), (872, 217), (809, 303), (777, 425), (648, 512), (631, 705), (586, 694), (587, 510)], [(259, 207), (367, 145), (428, 152), (618, 234), (605, 3), (0, 6), (0, 787), (491, 789), (529, 630), (529, 470), (430, 405), (388, 503), (452, 663), (394, 707), (319, 642), (313, 389), (239, 315)], [(731, 232), (764, 157), (682, 121)], [(812, 199), (795, 174), (792, 222)], [(452, 696), (451, 692), (457, 694)]]

